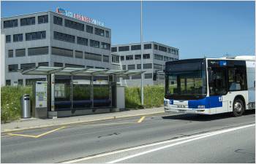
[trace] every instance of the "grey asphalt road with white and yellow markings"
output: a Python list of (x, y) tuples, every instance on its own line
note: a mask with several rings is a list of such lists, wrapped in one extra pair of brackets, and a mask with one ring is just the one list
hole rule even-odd
[(255, 163), (255, 111), (156, 114), (1, 134), (1, 163)]

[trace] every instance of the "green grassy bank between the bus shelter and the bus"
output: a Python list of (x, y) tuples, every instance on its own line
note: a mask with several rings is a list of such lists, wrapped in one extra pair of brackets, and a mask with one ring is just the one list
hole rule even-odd
[(163, 85), (153, 85), (143, 87), (144, 105), (141, 105), (140, 87), (125, 88), (125, 106), (126, 108), (142, 109), (159, 107), (163, 105), (165, 87)]

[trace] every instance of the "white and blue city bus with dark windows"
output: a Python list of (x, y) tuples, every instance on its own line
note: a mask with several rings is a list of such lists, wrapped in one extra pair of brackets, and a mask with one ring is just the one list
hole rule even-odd
[(165, 112), (241, 116), (255, 109), (255, 56), (165, 64)]

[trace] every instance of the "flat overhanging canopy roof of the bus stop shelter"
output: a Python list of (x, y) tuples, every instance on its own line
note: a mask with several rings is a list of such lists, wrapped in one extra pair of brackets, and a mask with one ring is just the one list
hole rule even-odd
[(135, 70), (116, 70), (116, 69), (86, 69), (86, 68), (72, 68), (72, 67), (50, 67), (37, 66), (31, 69), (18, 70), (21, 74), (28, 75), (76, 75), (76, 76), (100, 76), (100, 75), (116, 75), (116, 77), (129, 77), (136, 74), (143, 74), (145, 71)]

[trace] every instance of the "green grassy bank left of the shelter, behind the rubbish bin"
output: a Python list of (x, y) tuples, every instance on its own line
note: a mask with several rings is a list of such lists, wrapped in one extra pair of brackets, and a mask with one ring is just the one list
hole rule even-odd
[(1, 122), (20, 119), (20, 97), (32, 95), (32, 87), (1, 87)]

